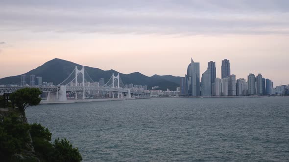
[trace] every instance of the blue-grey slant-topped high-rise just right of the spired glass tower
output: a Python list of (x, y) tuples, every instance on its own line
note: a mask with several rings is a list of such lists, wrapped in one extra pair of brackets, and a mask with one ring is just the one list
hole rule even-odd
[(208, 68), (202, 75), (202, 96), (212, 95), (211, 69)]

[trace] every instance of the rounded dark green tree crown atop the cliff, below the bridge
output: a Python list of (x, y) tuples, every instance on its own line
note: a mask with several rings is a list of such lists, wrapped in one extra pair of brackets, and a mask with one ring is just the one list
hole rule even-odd
[(42, 92), (38, 88), (23, 88), (10, 95), (10, 100), (15, 103), (20, 111), (24, 111), (28, 106), (40, 103)]

